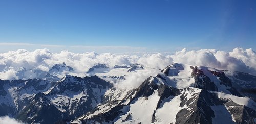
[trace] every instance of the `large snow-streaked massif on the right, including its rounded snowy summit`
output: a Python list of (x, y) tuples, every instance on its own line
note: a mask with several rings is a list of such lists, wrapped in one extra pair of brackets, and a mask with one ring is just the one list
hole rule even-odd
[(177, 63), (162, 72), (72, 123), (255, 123), (255, 97), (233, 88), (224, 72)]

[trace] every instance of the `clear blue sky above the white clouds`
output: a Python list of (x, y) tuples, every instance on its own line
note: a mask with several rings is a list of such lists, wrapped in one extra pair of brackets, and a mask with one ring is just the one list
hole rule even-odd
[(0, 52), (255, 50), (255, 40), (253, 0), (0, 1)]

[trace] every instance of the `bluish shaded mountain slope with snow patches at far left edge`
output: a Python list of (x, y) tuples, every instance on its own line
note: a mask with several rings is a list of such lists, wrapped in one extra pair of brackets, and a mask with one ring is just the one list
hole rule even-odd
[[(9, 115), (13, 117), (24, 106), (28, 105), (33, 93), (39, 91), (46, 91), (51, 86), (51, 83), (42, 79), (28, 79), (28, 80), (0, 80), (0, 112), (1, 116)], [(10, 90), (10, 92), (8, 91)]]

